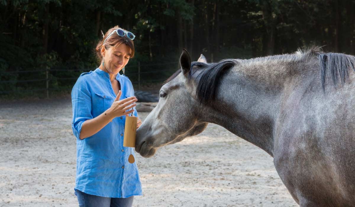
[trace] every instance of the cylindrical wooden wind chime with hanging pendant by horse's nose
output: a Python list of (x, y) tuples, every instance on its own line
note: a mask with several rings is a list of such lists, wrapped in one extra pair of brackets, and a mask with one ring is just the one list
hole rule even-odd
[[(124, 147), (136, 147), (137, 120), (138, 120), (138, 117), (133, 116), (133, 112), (132, 112), (131, 116), (126, 116), (125, 134), (123, 137), (123, 146)], [(130, 148), (130, 149), (131, 149), (131, 154), (128, 157), (128, 162), (134, 163), (135, 159), (132, 154), (132, 148)]]

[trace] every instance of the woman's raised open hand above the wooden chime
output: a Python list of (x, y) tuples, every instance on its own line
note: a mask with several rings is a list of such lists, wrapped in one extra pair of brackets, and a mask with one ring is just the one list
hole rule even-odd
[[(125, 116), (127, 114), (130, 114), (134, 111), (134, 109), (132, 109), (132, 108), (137, 105), (135, 102), (138, 99), (135, 96), (120, 100), (121, 94), (122, 94), (122, 91), (119, 91), (114, 102), (112, 103), (111, 107), (109, 108), (109, 110), (110, 110), (109, 113), (113, 117)], [(129, 110), (129, 109), (131, 109), (131, 110)], [(129, 111), (127, 111), (127, 110), (129, 110)]]

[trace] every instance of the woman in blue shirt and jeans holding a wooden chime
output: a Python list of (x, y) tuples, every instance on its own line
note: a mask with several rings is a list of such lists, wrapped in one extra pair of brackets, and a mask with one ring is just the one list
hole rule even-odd
[(123, 146), (125, 117), (138, 116), (137, 98), (131, 81), (119, 74), (134, 56), (134, 37), (118, 26), (109, 29), (96, 47), (100, 66), (82, 73), (71, 92), (79, 206), (128, 207), (142, 195), (137, 165), (128, 162), (134, 150)]

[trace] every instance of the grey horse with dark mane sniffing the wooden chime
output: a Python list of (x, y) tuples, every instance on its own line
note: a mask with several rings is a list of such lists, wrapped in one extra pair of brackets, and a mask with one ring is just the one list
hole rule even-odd
[(214, 123), (272, 156), (300, 206), (355, 206), (354, 56), (312, 48), (207, 63), (184, 50), (180, 64), (137, 130), (141, 156)]

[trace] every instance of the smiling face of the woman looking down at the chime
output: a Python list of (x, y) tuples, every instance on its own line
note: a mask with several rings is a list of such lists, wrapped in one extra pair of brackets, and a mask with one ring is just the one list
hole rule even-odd
[(108, 73), (117, 74), (130, 60), (131, 49), (125, 43), (118, 43), (108, 49), (102, 46), (101, 54), (104, 59), (104, 69), (107, 69)]

